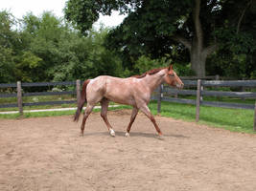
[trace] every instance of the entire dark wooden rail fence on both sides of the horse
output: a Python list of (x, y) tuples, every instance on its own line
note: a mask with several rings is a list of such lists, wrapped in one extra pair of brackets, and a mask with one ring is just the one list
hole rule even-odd
[[(212, 78), (218, 78), (213, 76)], [(242, 103), (228, 103), (220, 101), (205, 101), (203, 96), (229, 96), (248, 98), (252, 97), (256, 99), (256, 93), (253, 92), (223, 92), (223, 91), (208, 91), (204, 90), (206, 87), (243, 87), (243, 88), (256, 88), (256, 80), (183, 80), (185, 87), (192, 87), (194, 90), (184, 89), (176, 90), (168, 86), (161, 85), (157, 89), (157, 94), (152, 96), (151, 99), (157, 100), (157, 111), (161, 112), (161, 101), (178, 102), (186, 104), (194, 104), (197, 106), (196, 121), (199, 120), (199, 107), (200, 105), (225, 107), (225, 108), (239, 108), (239, 109), (252, 109), (255, 112), (253, 129), (256, 131), (256, 101), (255, 104), (242, 104)], [(76, 86), (76, 91), (63, 91), (63, 92), (38, 92), (38, 93), (22, 93), (22, 87), (54, 87), (54, 86)], [(40, 83), (12, 83), (12, 84), (0, 84), (1, 88), (15, 88), (16, 94), (0, 94), (0, 97), (17, 97), (17, 103), (1, 104), (0, 108), (18, 107), (19, 114), (23, 115), (23, 106), (33, 105), (51, 105), (51, 104), (68, 104), (76, 103), (76, 100), (61, 100), (61, 101), (44, 101), (23, 103), (22, 98), (24, 96), (56, 96), (56, 95), (76, 95), (77, 100), (80, 98), (81, 81), (69, 81), (69, 82), (40, 82)], [(175, 95), (175, 97), (170, 97)], [(178, 98), (178, 95), (182, 96), (196, 96), (196, 99)]]

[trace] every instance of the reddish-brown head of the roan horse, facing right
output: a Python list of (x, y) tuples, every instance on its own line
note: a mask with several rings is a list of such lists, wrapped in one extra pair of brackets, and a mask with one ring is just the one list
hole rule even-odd
[(173, 65), (170, 65), (167, 70), (166, 70), (166, 74), (164, 76), (164, 80), (167, 84), (176, 87), (178, 89), (182, 89), (184, 84), (181, 81), (181, 79), (177, 76), (177, 74), (175, 73), (174, 69), (173, 69)]

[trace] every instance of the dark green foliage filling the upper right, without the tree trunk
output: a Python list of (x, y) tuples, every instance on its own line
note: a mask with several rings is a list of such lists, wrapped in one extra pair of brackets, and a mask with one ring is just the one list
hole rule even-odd
[[(197, 2), (200, 2), (199, 23), (195, 25)], [(187, 66), (194, 55), (197, 59), (191, 59), (191, 67), (202, 62), (198, 68), (205, 64), (201, 57), (208, 57), (206, 74), (230, 76), (229, 72), (240, 70), (232, 75), (249, 77), (256, 70), (255, 8), (252, 0), (69, 0), (65, 15), (81, 32), (86, 32), (100, 13), (127, 13), (123, 23), (109, 32), (105, 46), (119, 53), (123, 66), (131, 74), (135, 72), (133, 66), (140, 56), (159, 59), (169, 53), (180, 66)], [(201, 28), (196, 30), (196, 26)], [(199, 37), (202, 38), (200, 46)], [(212, 45), (218, 45), (218, 53), (215, 49), (206, 49)]]

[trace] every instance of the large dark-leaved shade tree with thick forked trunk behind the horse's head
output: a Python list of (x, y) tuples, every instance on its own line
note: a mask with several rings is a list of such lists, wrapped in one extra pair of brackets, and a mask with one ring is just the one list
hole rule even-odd
[(172, 55), (177, 46), (184, 58), (190, 58), (196, 74), (204, 76), (206, 58), (220, 45), (216, 32), (234, 25), (241, 31), (252, 7), (253, 0), (69, 0), (65, 16), (86, 32), (100, 13), (127, 13), (124, 22), (109, 34), (112, 47), (129, 56), (160, 57)]

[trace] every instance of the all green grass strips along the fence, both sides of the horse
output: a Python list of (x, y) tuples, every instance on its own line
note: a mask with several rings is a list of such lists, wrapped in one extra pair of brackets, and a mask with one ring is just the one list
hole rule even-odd
[[(64, 105), (62, 107), (68, 107)], [(75, 105), (71, 105), (75, 106)], [(151, 101), (149, 105), (153, 115), (157, 115), (157, 102)], [(48, 108), (48, 107), (43, 107)], [(119, 106), (109, 110), (130, 109), (129, 106)], [(35, 108), (34, 108), (35, 109)], [(42, 109), (37, 107), (36, 109)], [(94, 112), (99, 112), (95, 109)], [(41, 113), (24, 113), (24, 117), (55, 117), (55, 116), (72, 116), (75, 111), (58, 111), (58, 112), (41, 112)], [(161, 116), (174, 117), (186, 121), (195, 121), (196, 106), (181, 103), (170, 103), (163, 101), (161, 104)], [(0, 118), (18, 118), (18, 114), (0, 115)], [(199, 124), (206, 124), (213, 127), (223, 128), (232, 132), (242, 132), (248, 134), (256, 134), (253, 131), (253, 110), (243, 109), (226, 109), (219, 107), (200, 106)]]

